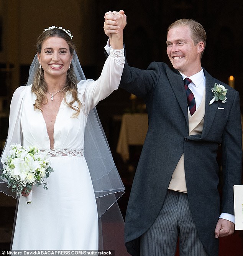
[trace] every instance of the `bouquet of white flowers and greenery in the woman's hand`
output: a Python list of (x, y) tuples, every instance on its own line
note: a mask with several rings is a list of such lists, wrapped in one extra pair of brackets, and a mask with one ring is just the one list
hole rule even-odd
[(29, 195), (26, 197), (27, 203), (31, 203), (32, 187), (44, 185), (44, 178), (48, 178), (54, 169), (49, 166), (47, 152), (40, 151), (36, 147), (23, 147), (15, 144), (10, 146), (9, 154), (5, 159), (6, 166), (1, 169), (0, 177), (7, 180), (8, 188), (12, 187), (12, 192), (19, 196), (25, 190)]

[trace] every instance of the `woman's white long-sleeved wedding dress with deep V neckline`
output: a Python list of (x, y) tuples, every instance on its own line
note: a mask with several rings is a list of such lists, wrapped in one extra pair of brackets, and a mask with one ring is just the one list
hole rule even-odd
[[(21, 123), (16, 129), (21, 129), (17, 132), (21, 133), (24, 146), (49, 150), (54, 172), (46, 179), (48, 190), (33, 187), (31, 204), (20, 196), (12, 249), (99, 248), (97, 204), (84, 157), (84, 130), (90, 109), (118, 88), (123, 63), (124, 57), (109, 56), (97, 81), (78, 83), (82, 102), (78, 117), (72, 116), (74, 110), (64, 100), (61, 102), (54, 124), (53, 150), (42, 112), (34, 110), (36, 96), (31, 86), (21, 86), (15, 91), (10, 124), (15, 119)], [(70, 97), (67, 95), (67, 101)]]

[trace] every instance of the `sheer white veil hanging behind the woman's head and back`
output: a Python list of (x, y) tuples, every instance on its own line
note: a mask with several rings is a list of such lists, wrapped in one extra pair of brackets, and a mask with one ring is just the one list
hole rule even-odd
[[(77, 80), (80, 81), (85, 79), (76, 52), (74, 52), (72, 58), (72, 66), (77, 76)], [(30, 66), (29, 79), (27, 85), (31, 85), (33, 83), (34, 75), (36, 73), (36, 69), (38, 68), (39, 61), (36, 54)], [(2, 154), (1, 156), (0, 168), (3, 168), (2, 163), (4, 162), (4, 156), (6, 155), (6, 151), (8, 150), (10, 143), (21, 144), (21, 102), (19, 106), (20, 109), (16, 110), (16, 112), (18, 113), (14, 113), (14, 115), (16, 116), (16, 122), (13, 122), (13, 126), (15, 127), (9, 127), (8, 138), (3, 150), (3, 153), (5, 152), (5, 154)], [(17, 135), (15, 132), (16, 129), (18, 129)], [(110, 148), (105, 137), (105, 133), (103, 131), (102, 125), (100, 123), (95, 108), (89, 112), (87, 125), (85, 128), (84, 156), (89, 167), (90, 176), (92, 179), (95, 192), (95, 198), (97, 201), (97, 210), (100, 227), (99, 248), (112, 249), (117, 243), (120, 243), (119, 246), (123, 247), (124, 221), (121, 216), (117, 200), (124, 193), (125, 188), (123, 186), (120, 175), (113, 161), (112, 154), (110, 152)], [(11, 192), (10, 188), (7, 188), (7, 184), (4, 181), (0, 181), (0, 191), (4, 192), (6, 195), (11, 195), (12, 197), (16, 198), (16, 194)], [(115, 232), (110, 234), (109, 228), (111, 226), (111, 220), (113, 220), (113, 232), (115, 230), (118, 230), (117, 233), (120, 233), (120, 235), (115, 235)], [(111, 236), (113, 236), (113, 238), (111, 238)], [(108, 243), (108, 240), (110, 240), (110, 243)]]

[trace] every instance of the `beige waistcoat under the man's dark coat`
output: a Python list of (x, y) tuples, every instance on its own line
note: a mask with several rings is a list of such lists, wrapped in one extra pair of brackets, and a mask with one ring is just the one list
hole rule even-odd
[[(204, 115), (205, 115), (205, 91), (202, 96), (202, 102), (200, 103), (197, 110), (192, 116), (190, 116), (190, 111), (188, 108), (188, 118), (189, 118), (189, 135), (202, 134), (202, 127), (204, 125)], [(185, 167), (184, 167), (184, 154), (182, 154), (176, 169), (174, 170), (169, 183), (168, 189), (176, 190), (179, 192), (187, 193), (186, 178), (185, 178)]]

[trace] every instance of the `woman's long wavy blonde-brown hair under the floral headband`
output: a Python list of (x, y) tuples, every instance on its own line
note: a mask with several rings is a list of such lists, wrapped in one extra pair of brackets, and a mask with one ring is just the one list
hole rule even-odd
[[(69, 45), (69, 50), (71, 55), (73, 56), (74, 50), (75, 50), (75, 45), (70, 36), (64, 31), (59, 28), (53, 28), (50, 30), (45, 30), (41, 35), (39, 35), (37, 42), (36, 42), (36, 48), (37, 48), (37, 53), (41, 53), (41, 47), (49, 37), (51, 36), (57, 36), (63, 38), (67, 44)], [(77, 96), (77, 77), (74, 73), (74, 69), (72, 64), (70, 65), (70, 68), (67, 70), (67, 81), (66, 85), (62, 89), (61, 92), (64, 92), (64, 101), (67, 104), (67, 106), (71, 107), (76, 113), (74, 116), (78, 116), (81, 108), (81, 102), (78, 99)], [(46, 104), (48, 102), (47, 97), (46, 97), (46, 91), (47, 91), (47, 85), (44, 80), (44, 70), (37, 69), (36, 73), (34, 75), (34, 80), (33, 80), (33, 85), (31, 88), (31, 91), (36, 94), (36, 100), (34, 103), (34, 109), (39, 109), (41, 111), (41, 105)], [(67, 102), (66, 100), (66, 93), (69, 92), (72, 94), (72, 100), (71, 102)], [(74, 102), (77, 102), (77, 106), (74, 106)]]

